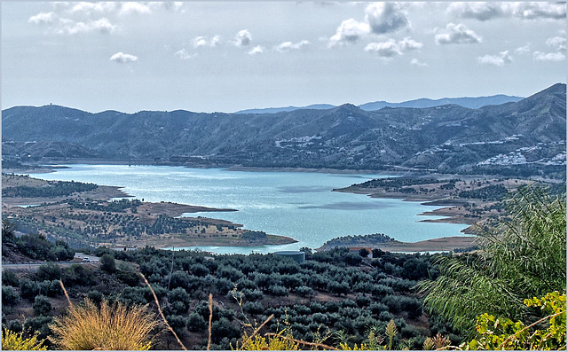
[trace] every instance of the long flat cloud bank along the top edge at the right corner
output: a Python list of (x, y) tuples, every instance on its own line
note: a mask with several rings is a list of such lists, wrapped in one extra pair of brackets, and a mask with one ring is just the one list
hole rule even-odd
[(565, 20), (566, 6), (562, 3), (545, 2), (497, 2), (449, 4), (447, 12), (464, 19), (493, 20), (501, 17), (515, 17), (522, 20)]

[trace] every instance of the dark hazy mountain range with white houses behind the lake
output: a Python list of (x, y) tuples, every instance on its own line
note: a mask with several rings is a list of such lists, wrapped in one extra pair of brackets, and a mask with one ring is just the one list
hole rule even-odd
[[(345, 104), (279, 113), (3, 111), (4, 159), (178, 165), (565, 173), (566, 85), (471, 109)], [(556, 175), (556, 174), (555, 174)]]

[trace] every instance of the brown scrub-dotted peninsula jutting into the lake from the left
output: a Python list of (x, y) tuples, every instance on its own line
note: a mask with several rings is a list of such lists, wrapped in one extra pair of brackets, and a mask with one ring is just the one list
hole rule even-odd
[(115, 186), (3, 174), (2, 195), (3, 217), (16, 223), (21, 232), (40, 232), (49, 239), (63, 239), (78, 247), (266, 246), (296, 242), (263, 231), (249, 231), (239, 223), (187, 216), (236, 209), (129, 199), (129, 194)]

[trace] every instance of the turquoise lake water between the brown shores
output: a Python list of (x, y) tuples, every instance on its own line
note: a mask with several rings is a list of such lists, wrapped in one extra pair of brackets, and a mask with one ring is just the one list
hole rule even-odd
[(328, 239), (381, 232), (394, 239), (416, 242), (460, 236), (468, 225), (422, 223), (437, 218), (422, 212), (438, 207), (401, 199), (372, 199), (367, 195), (332, 192), (381, 175), (345, 175), (307, 172), (229, 171), (221, 168), (166, 166), (70, 165), (38, 178), (80, 181), (124, 187), (146, 201), (171, 201), (237, 212), (192, 213), (241, 223), (298, 240), (286, 246), (200, 247), (216, 253), (267, 253), (275, 250), (317, 248)]

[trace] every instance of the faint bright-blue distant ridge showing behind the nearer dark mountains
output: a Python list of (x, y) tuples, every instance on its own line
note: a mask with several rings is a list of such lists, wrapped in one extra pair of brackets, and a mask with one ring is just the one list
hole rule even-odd
[[(522, 97), (507, 96), (503, 94), (494, 95), (490, 97), (464, 97), (464, 98), (441, 98), (441, 99), (429, 99), (420, 98), (414, 100), (404, 101), (402, 103), (389, 103), (387, 101), (375, 101), (371, 103), (362, 104), (359, 107), (365, 111), (374, 111), (383, 109), (383, 107), (435, 107), (435, 106), (445, 106), (448, 104), (454, 104), (456, 106), (469, 107), (470, 109), (478, 109), (483, 106), (498, 106), (505, 103), (517, 102), (522, 100)], [(240, 110), (236, 113), (282, 113), (301, 109), (314, 109), (314, 110), (326, 110), (331, 109), (330, 104), (314, 104), (311, 106), (287, 106), (287, 107), (267, 107), (259, 109), (247, 109)]]

